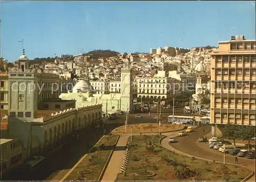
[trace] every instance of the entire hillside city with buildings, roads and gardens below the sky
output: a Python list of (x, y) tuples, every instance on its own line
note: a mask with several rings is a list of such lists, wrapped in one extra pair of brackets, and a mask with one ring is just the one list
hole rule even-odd
[(218, 43), (1, 58), (1, 180), (255, 181), (255, 40)]

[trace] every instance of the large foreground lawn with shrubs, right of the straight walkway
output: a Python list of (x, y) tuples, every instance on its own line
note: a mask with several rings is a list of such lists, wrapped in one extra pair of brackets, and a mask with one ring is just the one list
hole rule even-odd
[[(133, 136), (125, 175), (117, 180), (241, 181), (251, 171), (238, 166), (196, 160), (163, 148), (160, 135)], [(153, 175), (152, 177), (149, 177)]]

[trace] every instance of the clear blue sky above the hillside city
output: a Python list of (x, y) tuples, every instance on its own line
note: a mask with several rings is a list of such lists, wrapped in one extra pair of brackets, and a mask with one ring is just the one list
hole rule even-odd
[(9, 62), (151, 48), (218, 46), (233, 35), (255, 39), (252, 1), (2, 1), (2, 57)]

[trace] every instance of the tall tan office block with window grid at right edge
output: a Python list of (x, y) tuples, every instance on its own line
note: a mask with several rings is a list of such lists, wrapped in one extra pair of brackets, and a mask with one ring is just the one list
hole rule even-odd
[(211, 133), (221, 135), (227, 123), (255, 126), (255, 40), (244, 36), (221, 41), (212, 51)]

